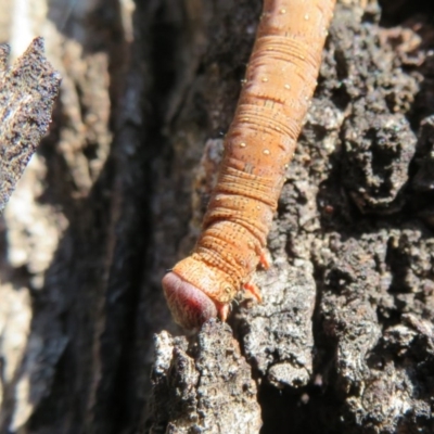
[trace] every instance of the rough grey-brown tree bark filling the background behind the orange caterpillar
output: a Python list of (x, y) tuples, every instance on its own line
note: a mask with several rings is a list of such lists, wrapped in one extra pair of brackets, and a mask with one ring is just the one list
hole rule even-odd
[(63, 82), (1, 225), (0, 432), (434, 432), (434, 7), (339, 3), (264, 304), (187, 339), (159, 281), (197, 237), (261, 2), (30, 3), (0, 4), (2, 41), (28, 46), (24, 16)]

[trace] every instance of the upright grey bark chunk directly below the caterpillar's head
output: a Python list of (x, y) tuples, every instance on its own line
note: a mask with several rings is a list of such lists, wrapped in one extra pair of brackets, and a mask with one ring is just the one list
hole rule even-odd
[(146, 433), (259, 431), (256, 384), (229, 326), (209, 321), (190, 343), (162, 332), (155, 348)]

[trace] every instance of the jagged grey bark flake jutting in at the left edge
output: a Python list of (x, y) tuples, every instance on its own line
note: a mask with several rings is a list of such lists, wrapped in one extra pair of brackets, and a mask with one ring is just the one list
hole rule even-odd
[(8, 44), (0, 46), (0, 213), (51, 122), (61, 77), (43, 56), (43, 39), (7, 67)]

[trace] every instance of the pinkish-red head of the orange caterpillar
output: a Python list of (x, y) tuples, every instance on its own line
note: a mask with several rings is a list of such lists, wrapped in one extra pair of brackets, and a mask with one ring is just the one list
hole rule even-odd
[(184, 329), (197, 329), (208, 319), (217, 317), (216, 304), (176, 272), (168, 272), (162, 284), (175, 322)]

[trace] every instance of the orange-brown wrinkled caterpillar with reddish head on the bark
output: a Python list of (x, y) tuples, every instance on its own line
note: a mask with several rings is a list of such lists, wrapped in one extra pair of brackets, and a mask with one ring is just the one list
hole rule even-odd
[(234, 118), (225, 138), (202, 234), (162, 284), (177, 323), (226, 320), (241, 290), (268, 268), (267, 234), (317, 84), (335, 0), (264, 0)]

